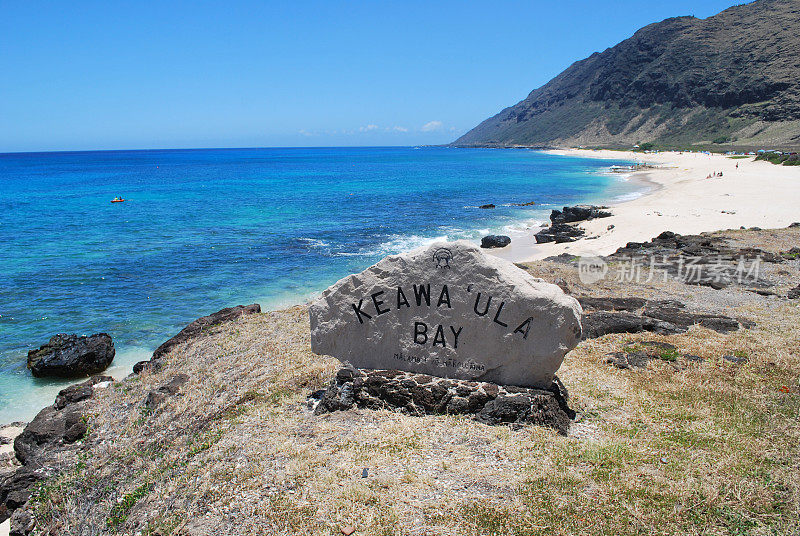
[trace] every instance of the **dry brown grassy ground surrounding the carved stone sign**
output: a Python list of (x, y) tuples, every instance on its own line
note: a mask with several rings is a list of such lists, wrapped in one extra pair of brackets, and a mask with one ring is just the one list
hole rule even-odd
[[(796, 244), (797, 235), (784, 236), (791, 232), (771, 240)], [(581, 289), (566, 267), (531, 270), (596, 295), (679, 295), (759, 325), (728, 335), (695, 327), (670, 337), (610, 335), (582, 343), (559, 372), (581, 418), (560, 437), (453, 416), (314, 416), (305, 399), (338, 362), (311, 353), (306, 310), (245, 317), (176, 348), (163, 371), (100, 395), (88, 416), (83, 459), (34, 499), (38, 530), (330, 535), (352, 525), (357, 535), (798, 533), (797, 305), (677, 283)], [(785, 277), (784, 286), (798, 278), (796, 264), (774, 271), (770, 276)], [(643, 339), (669, 341), (707, 361), (683, 370), (651, 363), (642, 371), (605, 363), (607, 352)], [(734, 352), (749, 362), (721, 359)], [(147, 392), (179, 372), (190, 376), (183, 393), (144, 410)]]

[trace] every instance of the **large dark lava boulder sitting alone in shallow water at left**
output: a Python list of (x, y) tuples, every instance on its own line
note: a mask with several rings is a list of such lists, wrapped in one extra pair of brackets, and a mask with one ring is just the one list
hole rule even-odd
[(114, 343), (107, 333), (78, 337), (59, 333), (28, 352), (28, 368), (36, 377), (75, 378), (103, 372), (114, 360)]

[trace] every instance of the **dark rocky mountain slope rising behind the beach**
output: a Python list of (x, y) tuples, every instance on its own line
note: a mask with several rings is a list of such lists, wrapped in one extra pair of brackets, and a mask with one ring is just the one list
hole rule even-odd
[(578, 61), (455, 145), (800, 146), (800, 1), (677, 17)]

